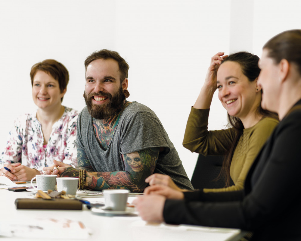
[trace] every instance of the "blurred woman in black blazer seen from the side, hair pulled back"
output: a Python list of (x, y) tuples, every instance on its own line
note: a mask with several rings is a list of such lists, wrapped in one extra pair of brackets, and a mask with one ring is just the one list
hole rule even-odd
[(136, 199), (144, 220), (229, 227), (254, 232), (252, 240), (301, 240), (301, 30), (270, 39), (259, 61), (261, 105), (281, 121), (237, 192), (180, 192), (149, 186)]

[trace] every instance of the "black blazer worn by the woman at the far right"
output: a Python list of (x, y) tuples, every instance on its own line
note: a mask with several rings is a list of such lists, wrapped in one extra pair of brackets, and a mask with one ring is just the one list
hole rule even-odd
[(166, 200), (163, 217), (172, 224), (251, 230), (252, 240), (301, 240), (299, 153), (301, 108), (275, 128), (247, 175), (244, 191), (185, 192), (185, 200)]

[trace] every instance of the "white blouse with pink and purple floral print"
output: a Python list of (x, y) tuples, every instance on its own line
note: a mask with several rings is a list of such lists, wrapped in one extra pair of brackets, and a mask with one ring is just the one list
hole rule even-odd
[(53, 165), (53, 160), (76, 167), (76, 124), (78, 111), (65, 107), (64, 114), (52, 126), (47, 146), (43, 147), (42, 125), (33, 114), (23, 114), (14, 122), (0, 163), (17, 163), (35, 168)]

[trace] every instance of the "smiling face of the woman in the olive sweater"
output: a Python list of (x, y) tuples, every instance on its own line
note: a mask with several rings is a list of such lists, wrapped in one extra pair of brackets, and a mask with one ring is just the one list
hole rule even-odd
[(226, 61), (217, 71), (219, 100), (231, 116), (247, 117), (257, 108), (256, 80), (250, 81), (241, 70), (240, 64)]

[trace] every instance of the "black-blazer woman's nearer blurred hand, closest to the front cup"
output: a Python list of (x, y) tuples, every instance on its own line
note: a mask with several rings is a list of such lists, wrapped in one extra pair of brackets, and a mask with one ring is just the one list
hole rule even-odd
[(160, 195), (145, 195), (133, 201), (141, 218), (145, 221), (163, 222), (163, 208), (166, 198)]

